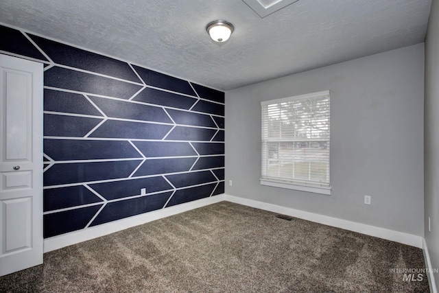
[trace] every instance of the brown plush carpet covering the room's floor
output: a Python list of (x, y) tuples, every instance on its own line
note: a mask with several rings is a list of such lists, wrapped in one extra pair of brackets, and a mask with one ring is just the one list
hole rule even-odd
[[(46, 253), (0, 292), (429, 292), (419, 248), (230, 202)], [(414, 280), (418, 274), (414, 276)]]

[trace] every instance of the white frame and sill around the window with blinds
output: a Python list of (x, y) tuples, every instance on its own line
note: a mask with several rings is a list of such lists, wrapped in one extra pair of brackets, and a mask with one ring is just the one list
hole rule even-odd
[[(328, 161), (327, 164), (329, 165), (327, 167), (327, 177), (329, 178), (327, 183), (316, 183), (310, 180), (299, 180), (299, 179), (284, 179), (284, 178), (276, 178), (276, 177), (272, 177), (272, 176), (263, 176), (264, 173), (264, 169), (265, 172), (267, 170), (267, 161), (268, 161), (268, 150), (266, 149), (267, 147), (264, 146), (264, 144), (266, 145), (266, 143), (268, 143), (269, 138), (268, 138), (268, 132), (265, 134), (266, 137), (264, 137), (264, 127), (265, 127), (265, 116), (263, 113), (264, 110), (264, 106), (268, 106), (268, 105), (272, 105), (272, 104), (279, 104), (282, 102), (293, 102), (295, 100), (298, 99), (312, 99), (312, 98), (316, 98), (316, 97), (324, 97), (324, 96), (329, 96), (329, 124), (328, 124), (328, 128), (329, 128), (329, 137), (328, 138), (324, 138), (324, 139), (318, 139), (319, 141), (327, 141), (328, 145), (329, 145), (329, 152), (328, 152)], [(266, 130), (265, 130), (266, 132)], [(279, 139), (280, 140), (280, 139)], [(316, 139), (308, 139), (308, 142), (311, 141), (315, 141)], [(291, 139), (291, 141), (294, 141), (294, 139)], [(280, 188), (285, 188), (285, 189), (294, 189), (294, 190), (299, 190), (299, 191), (307, 191), (307, 192), (313, 192), (316, 194), (325, 194), (325, 195), (331, 195), (331, 177), (330, 177), (330, 169), (331, 169), (331, 146), (330, 146), (330, 141), (331, 141), (331, 91), (319, 91), (316, 93), (308, 93), (305, 95), (295, 95), (292, 97), (284, 97), (281, 99), (272, 99), (272, 100), (268, 100), (268, 101), (263, 101), (261, 102), (261, 178), (260, 183), (261, 185), (267, 185), (267, 186), (271, 186), (271, 187), (280, 187)]]

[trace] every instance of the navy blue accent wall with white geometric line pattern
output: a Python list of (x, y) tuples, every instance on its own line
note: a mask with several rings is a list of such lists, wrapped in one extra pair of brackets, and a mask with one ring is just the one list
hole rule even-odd
[(224, 193), (224, 93), (0, 25), (43, 62), (44, 235)]

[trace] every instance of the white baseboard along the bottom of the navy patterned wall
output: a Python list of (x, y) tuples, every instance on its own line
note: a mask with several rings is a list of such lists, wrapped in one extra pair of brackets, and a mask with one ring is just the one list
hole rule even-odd
[(62, 235), (50, 237), (44, 240), (44, 252), (47, 253), (51, 250), (56, 250), (65, 246), (77, 244), (90, 239), (115, 233), (126, 228), (145, 224), (147, 222), (151, 222), (161, 218), (166, 218), (169, 217), (169, 215), (176, 215), (184, 211), (190, 211), (191, 209), (198, 209), (199, 207), (204, 207), (206, 205), (214, 204), (216, 202), (222, 202), (223, 200), (224, 194), (219, 194), (217, 196), (211, 196), (210, 198), (202, 198), (200, 200), (194, 200), (192, 202), (178, 204), (174, 207), (158, 209), (156, 211), (150, 211), (149, 213), (134, 215), (130, 218), (125, 218), (99, 226), (93, 226), (83, 230), (73, 231), (71, 233), (65, 233)]

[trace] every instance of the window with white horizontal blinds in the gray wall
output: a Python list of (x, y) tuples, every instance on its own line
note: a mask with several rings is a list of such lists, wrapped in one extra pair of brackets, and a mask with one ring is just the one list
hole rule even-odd
[(261, 102), (261, 184), (330, 194), (330, 93)]

